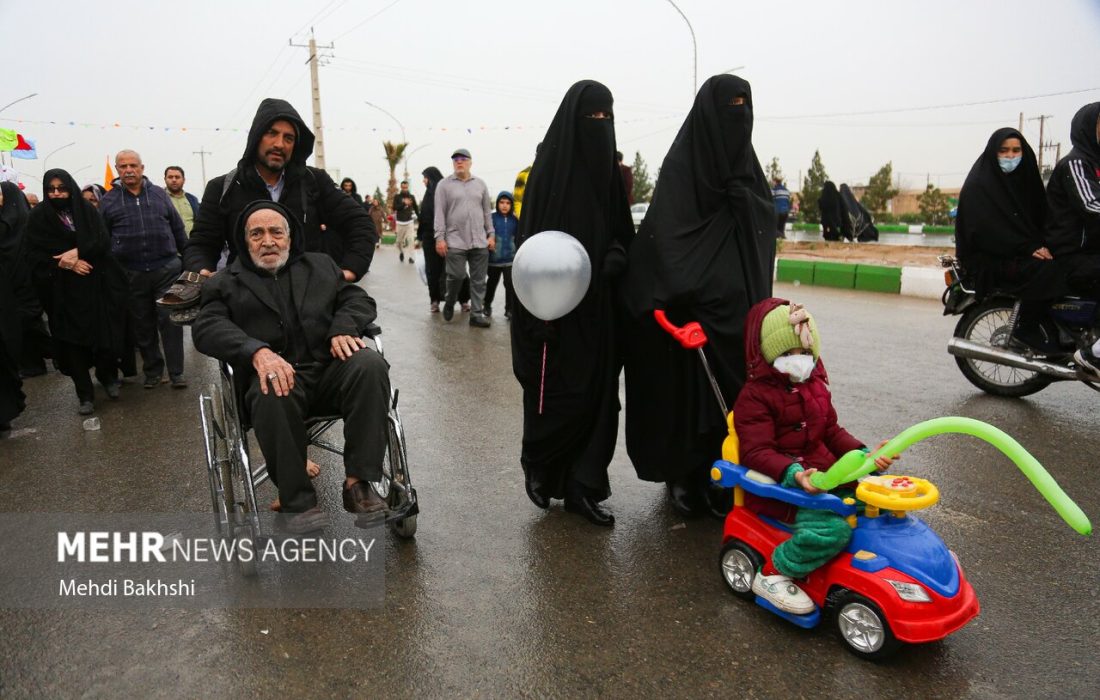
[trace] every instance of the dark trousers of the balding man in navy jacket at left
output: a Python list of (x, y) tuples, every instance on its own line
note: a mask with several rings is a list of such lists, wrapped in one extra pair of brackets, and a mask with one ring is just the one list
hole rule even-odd
[[(180, 376), (184, 373), (184, 329), (168, 319), (168, 309), (156, 305), (156, 300), (164, 296), (179, 276), (182, 269), (183, 263), (176, 260), (166, 267), (151, 272), (127, 271), (130, 280), (130, 321), (146, 379), (164, 376), (165, 359), (168, 362), (168, 376)], [(164, 354), (161, 354), (162, 342)]]

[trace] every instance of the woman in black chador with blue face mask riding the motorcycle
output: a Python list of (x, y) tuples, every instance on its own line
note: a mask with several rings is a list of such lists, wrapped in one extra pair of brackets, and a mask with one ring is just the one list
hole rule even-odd
[(1035, 152), (1015, 129), (998, 129), (959, 194), (956, 254), (979, 297), (1000, 289), (1023, 304), (1013, 338), (1038, 352), (1057, 343), (1043, 328), (1046, 303), (1066, 293), (1043, 238), (1046, 193)]

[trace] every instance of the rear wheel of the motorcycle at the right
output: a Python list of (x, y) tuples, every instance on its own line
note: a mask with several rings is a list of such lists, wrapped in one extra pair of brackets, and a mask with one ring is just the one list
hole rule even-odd
[[(1012, 331), (1012, 303), (1008, 299), (989, 299), (971, 307), (955, 326), (955, 337), (992, 348), (1004, 348)], [(1014, 367), (983, 362), (969, 358), (955, 358), (967, 380), (994, 396), (1019, 398), (1046, 389), (1053, 380)]]

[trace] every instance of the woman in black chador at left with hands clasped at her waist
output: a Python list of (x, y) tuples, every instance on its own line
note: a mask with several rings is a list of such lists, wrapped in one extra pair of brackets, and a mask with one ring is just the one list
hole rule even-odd
[(89, 414), (94, 389), (119, 395), (119, 360), (125, 350), (127, 278), (111, 256), (111, 239), (96, 208), (73, 176), (46, 171), (46, 200), (26, 225), (26, 261), (38, 299), (50, 316), (54, 359), (73, 378), (80, 414)]

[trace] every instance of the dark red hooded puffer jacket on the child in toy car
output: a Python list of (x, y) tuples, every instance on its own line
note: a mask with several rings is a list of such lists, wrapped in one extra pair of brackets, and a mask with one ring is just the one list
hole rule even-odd
[[(828, 391), (828, 375), (821, 360), (809, 380), (794, 384), (768, 364), (760, 352), (763, 317), (785, 299), (770, 298), (751, 309), (745, 321), (745, 358), (748, 381), (734, 404), (734, 427), (740, 440), (741, 463), (776, 481), (793, 463), (827, 471), (846, 452), (864, 444), (837, 425)], [(791, 521), (795, 507), (745, 494), (749, 510)]]

